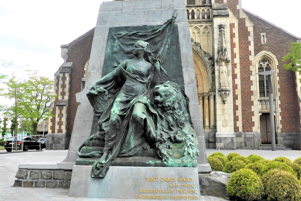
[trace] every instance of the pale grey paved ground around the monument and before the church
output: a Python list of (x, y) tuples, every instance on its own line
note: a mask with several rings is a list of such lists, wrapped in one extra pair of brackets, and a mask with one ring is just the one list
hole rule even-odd
[[(207, 149), (207, 155), (217, 152), (219, 150)], [(105, 200), (96, 198), (74, 198), (69, 197), (68, 189), (48, 189), (48, 188), (20, 188), (12, 187), (16, 172), (19, 164), (56, 164), (65, 159), (68, 150), (44, 150), (39, 152), (18, 152), (0, 154), (0, 201), (4, 200)], [(220, 152), (227, 155), (231, 152), (237, 152), (241, 155), (248, 156), (252, 153), (261, 155), (265, 159), (274, 159), (278, 156), (285, 156), (294, 160), (301, 156), (301, 151), (294, 150), (279, 150), (279, 151), (266, 151), (266, 150), (220, 150)], [(121, 201), (121, 199), (110, 199)], [(133, 199), (134, 200), (134, 199)], [(224, 201), (214, 196), (201, 196), (202, 201)], [(130, 201), (130, 200), (129, 200)]]

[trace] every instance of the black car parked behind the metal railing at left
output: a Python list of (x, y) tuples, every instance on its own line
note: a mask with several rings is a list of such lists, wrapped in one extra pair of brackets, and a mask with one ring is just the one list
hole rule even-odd
[[(11, 138), (7, 140), (4, 143), (4, 148), (6, 149), (7, 152), (11, 152), (11, 148), (15, 147), (14, 145), (14, 140), (15, 138)], [(28, 151), (29, 149), (36, 149), (40, 150), (40, 142), (36, 141), (32, 137), (17, 137), (17, 149), (21, 149), (22, 146), (22, 141), (23, 141), (23, 151)], [(42, 149), (42, 143), (41, 143), (41, 149)]]

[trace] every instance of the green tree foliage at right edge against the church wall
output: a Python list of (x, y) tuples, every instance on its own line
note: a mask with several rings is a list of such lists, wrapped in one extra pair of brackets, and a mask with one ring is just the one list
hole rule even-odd
[(296, 65), (298, 63), (301, 64), (301, 43), (293, 42), (292, 47), (289, 49), (289, 53), (285, 55), (281, 60), (286, 61), (290, 59), (290, 63), (283, 64), (286, 70), (292, 70), (294, 72), (299, 71), (301, 74), (301, 65)]

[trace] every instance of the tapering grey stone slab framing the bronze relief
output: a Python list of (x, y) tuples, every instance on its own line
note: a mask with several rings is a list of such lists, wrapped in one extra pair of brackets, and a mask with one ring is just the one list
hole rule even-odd
[[(150, 7), (149, 5), (152, 6)], [(173, 15), (176, 15), (175, 25), (178, 27), (179, 52), (181, 53), (181, 61), (179, 60), (179, 62), (182, 64), (185, 93), (190, 99), (191, 119), (197, 139), (200, 140), (198, 142), (200, 155), (197, 160), (199, 172), (209, 172), (211, 170), (206, 160), (202, 118), (195, 84), (191, 36), (184, 0), (114, 1), (101, 4), (92, 43), (86, 86), (82, 92), (76, 94), (76, 102), (79, 106), (76, 112), (68, 155), (63, 162), (57, 164), (58, 166), (64, 168), (70, 167), (71, 164), (74, 165), (78, 158), (76, 150), (79, 144), (93, 133), (91, 128), (94, 113), (86, 93), (89, 86), (102, 77), (109, 29), (111, 27), (162, 25)], [(170, 65), (173, 66), (174, 64)]]

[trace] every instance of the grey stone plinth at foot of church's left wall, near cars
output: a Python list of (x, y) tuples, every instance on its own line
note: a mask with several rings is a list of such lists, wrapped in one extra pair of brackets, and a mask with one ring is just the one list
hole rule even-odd
[(71, 133), (49, 133), (47, 134), (46, 149), (65, 150), (69, 149)]

